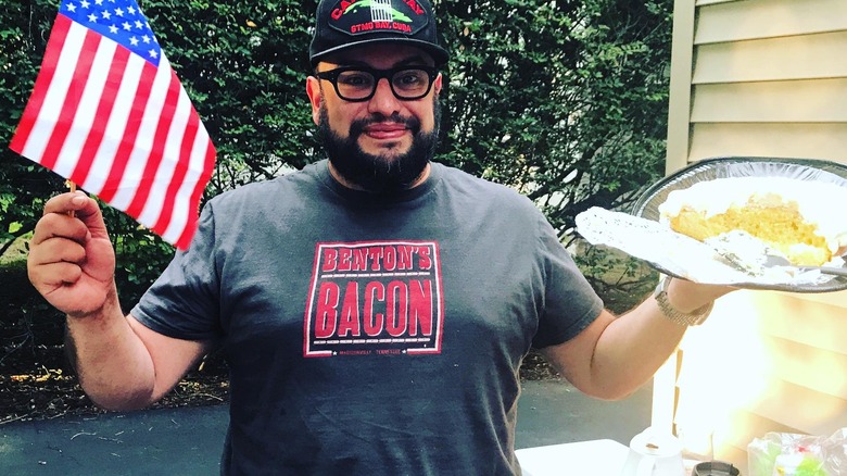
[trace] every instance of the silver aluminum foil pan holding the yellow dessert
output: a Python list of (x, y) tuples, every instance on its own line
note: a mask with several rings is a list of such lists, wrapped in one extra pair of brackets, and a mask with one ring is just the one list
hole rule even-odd
[[(593, 245), (617, 248), (644, 260), (663, 274), (699, 283), (789, 292), (832, 292), (847, 289), (847, 277), (821, 275), (817, 272), (789, 277), (750, 277), (722, 260), (710, 247), (658, 223), (658, 208), (667, 200), (668, 193), (698, 181), (726, 177), (787, 177), (827, 181), (847, 188), (847, 165), (805, 159), (707, 159), (647, 188), (629, 213), (599, 209), (581, 213), (577, 216), (577, 231)], [(843, 204), (833, 203), (834, 210)], [(847, 267), (847, 263), (843, 266)]]

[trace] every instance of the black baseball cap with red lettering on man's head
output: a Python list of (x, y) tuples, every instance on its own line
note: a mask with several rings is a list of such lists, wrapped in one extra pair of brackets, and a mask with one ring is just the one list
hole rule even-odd
[(320, 0), (308, 59), (361, 45), (404, 43), (418, 47), (441, 66), (450, 59), (439, 46), (429, 0)]

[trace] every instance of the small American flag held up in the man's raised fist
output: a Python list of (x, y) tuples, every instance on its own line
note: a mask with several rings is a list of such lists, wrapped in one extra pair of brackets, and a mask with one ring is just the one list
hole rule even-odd
[(10, 148), (179, 249), (215, 148), (135, 0), (63, 0)]

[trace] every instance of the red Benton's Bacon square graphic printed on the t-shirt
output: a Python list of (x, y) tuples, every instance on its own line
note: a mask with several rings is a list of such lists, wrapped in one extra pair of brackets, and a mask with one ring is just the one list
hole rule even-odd
[(433, 241), (318, 243), (303, 354), (440, 353), (441, 291)]

